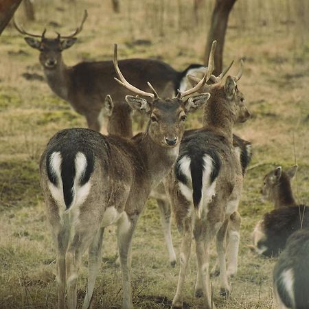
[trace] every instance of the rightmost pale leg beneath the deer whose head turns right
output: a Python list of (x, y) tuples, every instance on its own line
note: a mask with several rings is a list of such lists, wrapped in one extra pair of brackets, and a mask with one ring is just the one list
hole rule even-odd
[(240, 242), (241, 217), (238, 211), (233, 212), (229, 218), (227, 229), (227, 275), (233, 276), (238, 268), (238, 248)]

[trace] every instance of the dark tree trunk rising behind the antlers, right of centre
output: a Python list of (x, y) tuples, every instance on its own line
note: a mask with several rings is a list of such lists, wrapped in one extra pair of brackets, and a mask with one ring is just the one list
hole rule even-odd
[(214, 11), (211, 16), (211, 25), (208, 33), (208, 40), (205, 49), (205, 64), (207, 65), (212, 41), (217, 40), (216, 52), (214, 54), (214, 74), (222, 71), (223, 47), (225, 45), (225, 32), (227, 32), (227, 21), (229, 12), (237, 0), (216, 0)]

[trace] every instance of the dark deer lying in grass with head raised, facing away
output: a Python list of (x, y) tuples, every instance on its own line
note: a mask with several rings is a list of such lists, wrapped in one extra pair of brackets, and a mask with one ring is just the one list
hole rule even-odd
[(296, 172), (297, 165), (286, 172), (278, 166), (264, 177), (262, 194), (275, 209), (264, 214), (253, 231), (253, 249), (259, 254), (278, 255), (294, 231), (309, 227), (309, 207), (297, 205), (290, 185)]

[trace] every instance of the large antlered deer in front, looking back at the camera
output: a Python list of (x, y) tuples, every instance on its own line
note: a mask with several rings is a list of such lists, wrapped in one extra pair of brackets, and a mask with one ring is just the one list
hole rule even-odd
[[(115, 71), (124, 87), (148, 98), (126, 96), (135, 110), (148, 115), (146, 132), (138, 139), (104, 136), (86, 128), (58, 132), (41, 157), (41, 185), (47, 221), (57, 250), (58, 303), (76, 308), (76, 283), (82, 255), (89, 250), (89, 278), (83, 308), (88, 308), (100, 268), (104, 227), (117, 225), (124, 308), (133, 308), (130, 248), (137, 219), (153, 187), (176, 161), (187, 113), (203, 106), (209, 93), (183, 100), (209, 76), (179, 98), (161, 100), (155, 89), (141, 91)], [(108, 99), (107, 99), (108, 101)]]

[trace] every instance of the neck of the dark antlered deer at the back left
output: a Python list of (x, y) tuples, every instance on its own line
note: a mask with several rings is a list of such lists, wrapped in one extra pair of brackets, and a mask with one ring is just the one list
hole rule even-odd
[(45, 77), (49, 87), (63, 100), (69, 99), (69, 68), (65, 65), (62, 58), (54, 69), (44, 68)]

